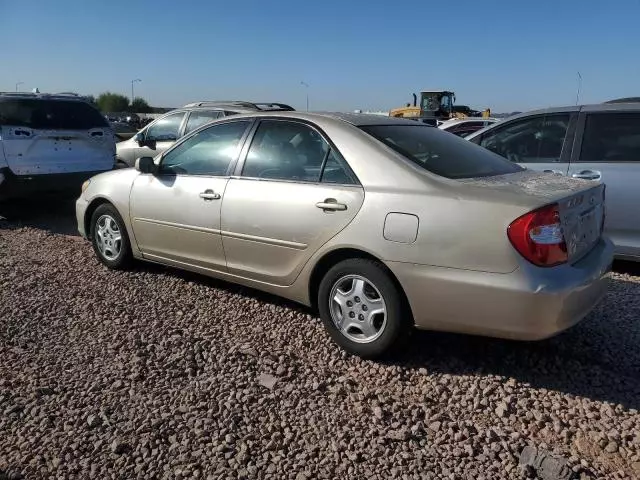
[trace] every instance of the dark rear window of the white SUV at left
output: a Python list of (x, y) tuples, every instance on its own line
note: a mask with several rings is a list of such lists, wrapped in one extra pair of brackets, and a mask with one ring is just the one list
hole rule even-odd
[(50, 130), (109, 126), (100, 112), (86, 102), (35, 98), (0, 99), (0, 125)]

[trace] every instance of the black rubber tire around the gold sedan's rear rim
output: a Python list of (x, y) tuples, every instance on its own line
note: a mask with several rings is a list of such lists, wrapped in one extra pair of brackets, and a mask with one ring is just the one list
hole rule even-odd
[[(352, 340), (347, 336), (348, 333), (343, 333), (333, 321), (330, 306), (332, 290), (337, 283), (349, 281), (349, 276), (361, 277), (373, 285), (377, 290), (374, 293), (379, 293), (386, 307), (386, 324), (384, 328), (379, 330), (378, 336), (374, 336), (375, 338), (367, 341), (368, 343)], [(396, 351), (411, 331), (410, 313), (404, 298), (403, 293), (399, 291), (399, 287), (391, 279), (383, 265), (373, 260), (353, 258), (337, 263), (325, 274), (318, 289), (318, 310), (324, 327), (335, 343), (348, 353), (373, 359)], [(355, 304), (352, 303), (352, 305)], [(355, 305), (354, 308), (358, 308), (358, 306)], [(359, 308), (364, 307), (360, 306)], [(354, 314), (356, 312), (357, 310), (354, 311)], [(360, 316), (355, 318), (360, 318)], [(352, 330), (352, 333), (357, 335), (357, 331), (357, 329)], [(364, 333), (364, 331), (362, 332)]]

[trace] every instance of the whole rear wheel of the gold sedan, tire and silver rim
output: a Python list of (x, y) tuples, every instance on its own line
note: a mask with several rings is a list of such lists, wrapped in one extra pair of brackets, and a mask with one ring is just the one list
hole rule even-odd
[(354, 355), (377, 358), (391, 353), (409, 331), (403, 298), (380, 263), (356, 258), (326, 273), (318, 308), (333, 341)]

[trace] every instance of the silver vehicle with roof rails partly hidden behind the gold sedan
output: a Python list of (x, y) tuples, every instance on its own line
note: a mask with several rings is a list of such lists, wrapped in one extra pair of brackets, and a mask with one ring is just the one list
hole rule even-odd
[(218, 118), (256, 111), (293, 111), (283, 103), (245, 101), (196, 102), (170, 111), (144, 127), (133, 137), (116, 145), (117, 167), (133, 167), (140, 157), (155, 157), (176, 140)]

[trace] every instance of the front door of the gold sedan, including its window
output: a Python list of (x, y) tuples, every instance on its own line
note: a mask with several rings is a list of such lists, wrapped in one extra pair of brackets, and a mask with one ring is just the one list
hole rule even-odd
[(157, 174), (135, 180), (131, 220), (145, 258), (226, 269), (220, 206), (249, 124), (222, 123), (187, 137), (160, 159)]

